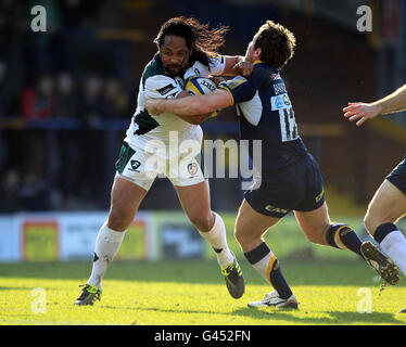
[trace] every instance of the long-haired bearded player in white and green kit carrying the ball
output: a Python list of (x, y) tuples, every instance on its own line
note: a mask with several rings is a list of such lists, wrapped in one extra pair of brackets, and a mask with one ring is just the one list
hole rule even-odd
[[(203, 177), (200, 159), (187, 160), (188, 153), (181, 150), (185, 140), (202, 142), (201, 127), (191, 118), (188, 123), (170, 113), (154, 117), (144, 108), (147, 98), (165, 100), (187, 95), (183, 77), (251, 73), (252, 65), (244, 64), (242, 57), (214, 53), (223, 46), (227, 30), (227, 27), (210, 29), (208, 25), (188, 17), (175, 17), (162, 25), (154, 40), (158, 52), (142, 74), (138, 106), (116, 163), (111, 208), (96, 241), (92, 272), (75, 305), (93, 305), (100, 299), (104, 273), (158, 174), (169, 178), (190, 221), (216, 252), (231, 296), (243, 295), (241, 269), (227, 245), (221, 217), (211, 210), (208, 182)], [(172, 136), (176, 144), (170, 143)]]

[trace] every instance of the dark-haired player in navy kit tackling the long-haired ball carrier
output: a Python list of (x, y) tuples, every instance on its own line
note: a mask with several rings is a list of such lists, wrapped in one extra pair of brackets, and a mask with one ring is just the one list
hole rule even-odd
[(275, 291), (250, 303), (251, 307), (297, 307), (278, 259), (263, 239), (268, 228), (291, 210), (310, 242), (354, 252), (388, 282), (398, 281), (395, 266), (373, 244), (363, 243), (347, 224), (330, 221), (319, 167), (299, 136), (292, 103), (280, 76), (294, 48), (293, 34), (267, 21), (246, 49), (245, 61), (254, 64), (251, 76), (221, 82), (210, 94), (176, 101), (151, 99), (145, 103), (151, 114), (172, 112), (181, 116), (236, 104), (241, 139), (262, 140), (262, 183), (245, 192), (234, 235), (249, 262)]

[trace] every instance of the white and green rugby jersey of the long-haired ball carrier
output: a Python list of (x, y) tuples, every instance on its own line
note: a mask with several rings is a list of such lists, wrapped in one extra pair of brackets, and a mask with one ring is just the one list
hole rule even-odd
[[(210, 54), (210, 68), (200, 62), (191, 62), (185, 78), (191, 76), (221, 75), (226, 59), (219, 54)], [(145, 66), (138, 92), (137, 110), (127, 129), (126, 141), (134, 144), (145, 144), (150, 140), (169, 141), (169, 131), (178, 131), (179, 138), (186, 138), (200, 126), (191, 125), (170, 113), (160, 116), (150, 115), (144, 107), (149, 98), (175, 99), (183, 90), (183, 79), (165, 73), (160, 54)]]

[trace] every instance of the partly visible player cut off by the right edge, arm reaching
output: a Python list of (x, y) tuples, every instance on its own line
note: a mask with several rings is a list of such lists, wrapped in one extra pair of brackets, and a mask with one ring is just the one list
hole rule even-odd
[[(343, 108), (344, 117), (366, 120), (406, 110), (406, 85), (372, 103), (350, 102)], [(369, 203), (364, 218), (365, 228), (382, 249), (406, 274), (406, 240), (395, 223), (406, 214), (406, 157), (386, 176)], [(406, 313), (406, 309), (401, 312)]]

